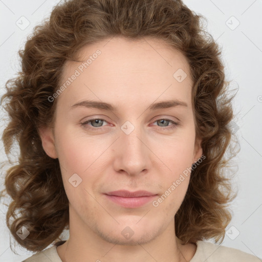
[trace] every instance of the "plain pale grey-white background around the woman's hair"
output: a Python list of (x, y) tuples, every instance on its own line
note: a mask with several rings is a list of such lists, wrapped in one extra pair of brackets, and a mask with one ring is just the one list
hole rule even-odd
[[(47, 18), (58, 2), (0, 0), (0, 96), (4, 93), (5, 82), (19, 70), (17, 51), (23, 48), (33, 27)], [(234, 109), (238, 113), (234, 119), (235, 134), (241, 145), (234, 159), (238, 166), (234, 179), (238, 195), (231, 205), (233, 219), (222, 244), (262, 258), (262, 1), (185, 0), (184, 3), (207, 18), (207, 31), (222, 46), (227, 79), (233, 80), (232, 89), (238, 88), (234, 99)], [(21, 16), (30, 22), (26, 29), (22, 28), (24, 30), (16, 25), (25, 19)], [(0, 116), (2, 134), (5, 125), (2, 111)], [(4, 160), (1, 141), (0, 161)], [(0, 179), (0, 189), (3, 189), (3, 170)], [(1, 203), (0, 260), (22, 261), (32, 252), (17, 247), (18, 255), (12, 253), (10, 241), (13, 243), (13, 240), (6, 227), (5, 214), (6, 207)]]

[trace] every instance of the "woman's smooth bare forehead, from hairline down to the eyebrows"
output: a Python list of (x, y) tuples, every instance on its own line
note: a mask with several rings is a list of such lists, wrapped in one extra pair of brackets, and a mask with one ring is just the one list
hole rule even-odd
[(180, 51), (162, 40), (113, 37), (82, 48), (79, 60), (64, 64), (61, 85), (78, 73), (59, 99), (67, 96), (75, 101), (87, 97), (108, 101), (113, 94), (115, 101), (124, 101), (126, 96), (140, 102), (169, 97), (190, 99), (189, 64)]

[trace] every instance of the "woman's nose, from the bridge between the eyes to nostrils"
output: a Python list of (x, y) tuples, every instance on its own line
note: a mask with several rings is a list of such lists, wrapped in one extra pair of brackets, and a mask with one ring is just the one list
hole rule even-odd
[(141, 176), (141, 174), (147, 173), (151, 168), (153, 154), (149, 149), (150, 145), (148, 145), (149, 142), (144, 130), (129, 122), (122, 126), (119, 136), (114, 148), (116, 152), (115, 170), (129, 176)]

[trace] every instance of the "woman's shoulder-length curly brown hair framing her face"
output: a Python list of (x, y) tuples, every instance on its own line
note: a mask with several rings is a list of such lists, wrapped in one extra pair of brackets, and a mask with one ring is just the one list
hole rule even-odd
[[(202, 140), (205, 160), (192, 169), (175, 215), (176, 235), (185, 244), (223, 240), (231, 220), (228, 205), (235, 197), (223, 173), (236, 155), (229, 125), (234, 95), (228, 95), (222, 51), (203, 29), (202, 19), (181, 0), (71, 0), (58, 4), (50, 18), (34, 28), (18, 52), (21, 71), (6, 82), (1, 99), (10, 118), (2, 136), (5, 152), (9, 157), (15, 142), (20, 149), (18, 162), (6, 171), (3, 190), (12, 198), (7, 226), (19, 245), (42, 251), (69, 228), (59, 161), (43, 150), (39, 127), (54, 124), (56, 99), (51, 103), (48, 97), (60, 86), (65, 61), (76, 60), (84, 46), (118, 35), (161, 39), (186, 57), (193, 79), (196, 139)], [(16, 234), (21, 226), (30, 232), (23, 240)]]

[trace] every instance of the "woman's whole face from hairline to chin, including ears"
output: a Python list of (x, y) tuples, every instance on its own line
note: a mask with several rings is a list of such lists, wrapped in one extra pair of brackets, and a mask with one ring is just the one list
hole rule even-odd
[(148, 38), (114, 37), (80, 54), (90, 60), (65, 63), (61, 85), (71, 80), (54, 96), (54, 135), (41, 130), (47, 154), (59, 159), (70, 230), (115, 244), (147, 243), (173, 228), (189, 183), (185, 170), (202, 155), (189, 64)]

